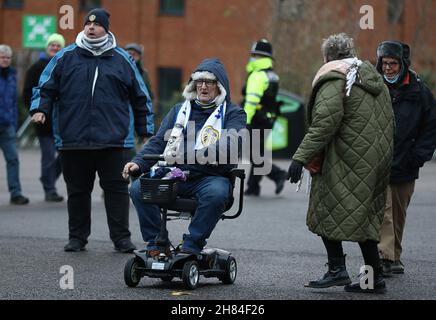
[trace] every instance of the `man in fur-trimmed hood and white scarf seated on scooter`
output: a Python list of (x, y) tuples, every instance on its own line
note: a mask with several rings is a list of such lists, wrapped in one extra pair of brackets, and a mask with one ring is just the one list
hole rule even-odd
[[(126, 164), (123, 172), (126, 175), (147, 172), (153, 161), (144, 161), (143, 155), (146, 154), (164, 154), (169, 159), (180, 156), (182, 163), (178, 161), (177, 167), (189, 171), (189, 177), (186, 182), (179, 184), (178, 192), (183, 196), (195, 196), (199, 202), (189, 225), (189, 233), (183, 235), (181, 249), (188, 253), (199, 253), (230, 199), (232, 188), (225, 176), (236, 167), (237, 159), (236, 163), (230, 161), (229, 154), (234, 154), (240, 148), (239, 132), (246, 127), (246, 115), (242, 108), (232, 104), (227, 74), (218, 59), (206, 59), (197, 67), (183, 96), (185, 102), (170, 110), (157, 135), (147, 142), (132, 162)], [(179, 129), (183, 129), (183, 134), (178, 134)], [(165, 133), (168, 130), (171, 138), (167, 143)], [(190, 141), (190, 132), (195, 132), (195, 141)], [(186, 147), (179, 149), (178, 144)], [(211, 159), (206, 164), (200, 164), (203, 161), (189, 161), (191, 152), (198, 160), (203, 154), (208, 157), (207, 151), (213, 151), (216, 158), (219, 155), (219, 160)], [(220, 163), (221, 159), (228, 161)], [(162, 249), (155, 242), (160, 230), (159, 207), (141, 202), (139, 180), (132, 184), (130, 196), (138, 212), (147, 249), (150, 255), (158, 255), (159, 249)]]

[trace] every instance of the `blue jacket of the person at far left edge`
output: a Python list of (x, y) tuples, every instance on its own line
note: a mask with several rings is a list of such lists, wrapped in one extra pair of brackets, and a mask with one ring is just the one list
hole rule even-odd
[(0, 126), (17, 127), (17, 72), (9, 67), (6, 78), (0, 75)]

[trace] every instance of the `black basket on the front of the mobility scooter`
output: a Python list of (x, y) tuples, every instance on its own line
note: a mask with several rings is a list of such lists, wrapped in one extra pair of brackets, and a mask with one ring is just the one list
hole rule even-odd
[(140, 178), (140, 183), (142, 202), (162, 206), (176, 200), (178, 180), (151, 179), (144, 175)]

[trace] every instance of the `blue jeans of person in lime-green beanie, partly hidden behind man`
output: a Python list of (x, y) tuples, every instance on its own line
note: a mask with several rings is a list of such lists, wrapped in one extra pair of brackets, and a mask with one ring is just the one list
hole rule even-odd
[(59, 156), (56, 155), (54, 138), (49, 135), (38, 136), (41, 147), (41, 178), (45, 193), (56, 193), (55, 183), (62, 169)]

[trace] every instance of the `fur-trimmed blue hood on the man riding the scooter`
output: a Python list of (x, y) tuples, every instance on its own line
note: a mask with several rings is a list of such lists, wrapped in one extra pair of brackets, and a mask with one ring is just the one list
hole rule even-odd
[[(227, 73), (223, 63), (217, 58), (209, 58), (203, 60), (198, 65), (198, 67), (192, 73), (188, 81), (188, 84), (185, 87), (185, 90), (183, 91), (183, 96), (185, 97), (185, 99), (191, 101), (197, 97), (194, 78), (195, 78), (195, 74), (199, 72), (205, 72), (205, 74), (211, 73), (216, 77), (218, 81), (218, 87), (220, 88), (221, 95), (222, 95), (222, 97), (219, 97), (220, 98), (219, 100), (221, 100), (222, 102), (226, 101), (229, 104), (231, 102), (229, 79), (227, 77)], [(217, 104), (219, 105), (220, 103)]]

